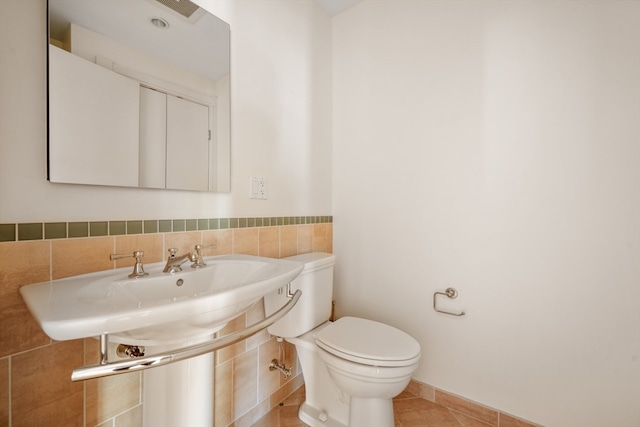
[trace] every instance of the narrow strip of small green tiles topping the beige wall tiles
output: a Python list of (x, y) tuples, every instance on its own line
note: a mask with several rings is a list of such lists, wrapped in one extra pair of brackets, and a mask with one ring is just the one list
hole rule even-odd
[(0, 224), (0, 243), (332, 223), (333, 216), (186, 218)]

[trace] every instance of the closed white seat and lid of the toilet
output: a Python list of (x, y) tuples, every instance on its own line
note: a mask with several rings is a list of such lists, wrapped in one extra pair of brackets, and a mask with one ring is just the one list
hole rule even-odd
[(323, 350), (369, 366), (407, 366), (420, 358), (420, 344), (405, 332), (384, 323), (343, 317), (315, 335)]

